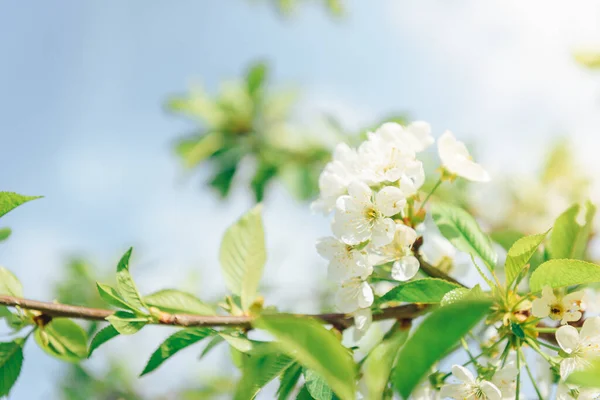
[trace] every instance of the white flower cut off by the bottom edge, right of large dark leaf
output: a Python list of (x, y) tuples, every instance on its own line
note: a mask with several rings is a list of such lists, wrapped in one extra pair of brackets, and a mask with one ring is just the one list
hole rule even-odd
[(452, 375), (462, 383), (450, 383), (442, 386), (442, 397), (456, 400), (481, 399), (502, 400), (502, 393), (491, 382), (475, 379), (471, 371), (461, 365), (452, 366)]

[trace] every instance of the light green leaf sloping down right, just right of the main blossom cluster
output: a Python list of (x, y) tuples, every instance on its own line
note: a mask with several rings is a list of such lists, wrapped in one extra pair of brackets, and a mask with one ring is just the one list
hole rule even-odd
[(435, 203), (431, 214), (442, 235), (458, 250), (481, 258), (494, 270), (498, 256), (492, 242), (469, 213), (454, 205)]

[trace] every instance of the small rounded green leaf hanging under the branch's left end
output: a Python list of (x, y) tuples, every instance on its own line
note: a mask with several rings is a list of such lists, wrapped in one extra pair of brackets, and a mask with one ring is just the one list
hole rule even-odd
[(42, 350), (59, 360), (76, 363), (88, 354), (85, 330), (70, 319), (53, 319), (36, 329), (34, 338)]

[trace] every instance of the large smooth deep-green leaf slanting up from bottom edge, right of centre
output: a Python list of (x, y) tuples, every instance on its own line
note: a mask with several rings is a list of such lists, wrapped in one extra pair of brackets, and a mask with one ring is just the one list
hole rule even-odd
[(490, 310), (488, 301), (459, 302), (432, 312), (400, 350), (393, 384), (405, 399), (443, 358)]

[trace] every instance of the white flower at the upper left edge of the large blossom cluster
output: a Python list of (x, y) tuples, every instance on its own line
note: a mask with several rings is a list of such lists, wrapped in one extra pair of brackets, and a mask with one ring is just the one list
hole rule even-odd
[(350, 182), (358, 179), (358, 154), (347, 144), (340, 143), (333, 151), (333, 160), (319, 176), (319, 199), (311, 204), (313, 211), (329, 213), (338, 197), (346, 194)]

